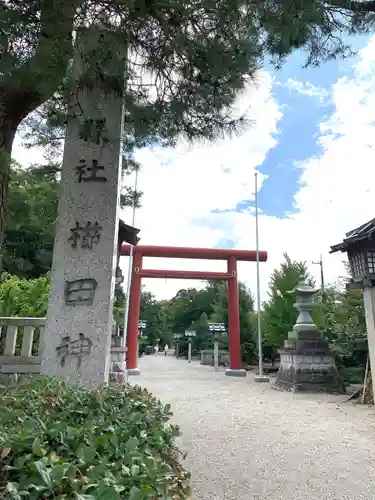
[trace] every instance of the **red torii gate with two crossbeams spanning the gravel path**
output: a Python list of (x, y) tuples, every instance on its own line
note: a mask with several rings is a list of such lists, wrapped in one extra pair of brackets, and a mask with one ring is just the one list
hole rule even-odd
[[(121, 255), (130, 255), (130, 245), (121, 246)], [(127, 368), (128, 373), (139, 373), (137, 367), (138, 321), (141, 307), (142, 278), (177, 278), (197, 280), (225, 280), (228, 282), (228, 340), (229, 365), (226, 375), (244, 377), (240, 347), (240, 312), (238, 304), (237, 261), (256, 261), (254, 250), (233, 250), (224, 248), (157, 247), (139, 245), (134, 247), (132, 263), (129, 317), (127, 328)], [(226, 260), (227, 272), (172, 271), (164, 269), (142, 269), (143, 257), (163, 257), (177, 259)], [(267, 252), (259, 251), (259, 261), (267, 261)]]

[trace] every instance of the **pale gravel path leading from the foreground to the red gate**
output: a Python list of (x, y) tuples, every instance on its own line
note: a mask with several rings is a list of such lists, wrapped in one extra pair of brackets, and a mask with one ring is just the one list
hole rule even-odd
[(342, 396), (294, 395), (199, 362), (140, 360), (183, 432), (193, 500), (373, 500), (375, 411)]

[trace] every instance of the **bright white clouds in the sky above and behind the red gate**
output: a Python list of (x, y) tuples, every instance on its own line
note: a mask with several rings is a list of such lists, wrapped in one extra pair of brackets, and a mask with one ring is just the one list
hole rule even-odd
[[(261, 264), (261, 294), (279, 266), (284, 252), (306, 260), (319, 283), (319, 266), (312, 261), (323, 255), (326, 282), (336, 283), (344, 274), (344, 255), (330, 255), (330, 245), (345, 232), (375, 216), (375, 37), (360, 52), (353, 76), (340, 78), (331, 89), (333, 114), (320, 124), (317, 139), (321, 152), (299, 164), (301, 185), (295, 195), (298, 213), (279, 219), (260, 216), (260, 247), (269, 253)], [(348, 61), (348, 66), (353, 61)], [(326, 97), (311, 84), (294, 88), (308, 95)], [(252, 211), (212, 214), (253, 199), (254, 171), (275, 145), (281, 106), (267, 85), (248, 96), (255, 107), (256, 126), (242, 137), (212, 146), (140, 152), (144, 170), (140, 187), (144, 206), (136, 217), (142, 243), (212, 247), (221, 239), (235, 239), (237, 248), (254, 249), (255, 219)], [(296, 138), (298, 140), (298, 138)], [(164, 163), (164, 165), (163, 165)], [(276, 166), (275, 166), (276, 168)], [(225, 169), (230, 169), (226, 173)], [(125, 261), (125, 259), (124, 259)], [(125, 264), (125, 262), (124, 262)], [(153, 259), (148, 268), (224, 270), (214, 262), (172, 262)], [(255, 264), (239, 265), (240, 279), (255, 292)], [(145, 280), (160, 298), (197, 283), (184, 280)]]

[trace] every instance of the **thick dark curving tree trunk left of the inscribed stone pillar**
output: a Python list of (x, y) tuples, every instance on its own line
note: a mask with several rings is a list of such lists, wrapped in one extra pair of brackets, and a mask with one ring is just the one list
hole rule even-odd
[(0, 72), (0, 271), (3, 270), (9, 169), (16, 131), (22, 120), (61, 85), (73, 57), (74, 18), (82, 2), (54, 0), (50, 5), (44, 2), (34, 54), (10, 73)]

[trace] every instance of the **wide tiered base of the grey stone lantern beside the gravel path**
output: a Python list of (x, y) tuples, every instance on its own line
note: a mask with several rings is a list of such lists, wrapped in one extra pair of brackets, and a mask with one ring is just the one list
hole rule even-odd
[(331, 353), (280, 351), (280, 368), (273, 387), (291, 392), (345, 393)]

